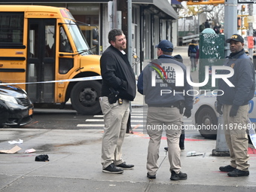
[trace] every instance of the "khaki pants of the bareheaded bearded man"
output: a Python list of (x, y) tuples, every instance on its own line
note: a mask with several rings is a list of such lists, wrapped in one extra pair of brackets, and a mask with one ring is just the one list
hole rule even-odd
[(129, 101), (123, 99), (123, 104), (110, 104), (108, 97), (99, 100), (104, 116), (104, 133), (102, 138), (102, 168), (111, 163), (119, 165), (122, 160), (122, 145), (126, 133), (126, 124), (130, 114)]

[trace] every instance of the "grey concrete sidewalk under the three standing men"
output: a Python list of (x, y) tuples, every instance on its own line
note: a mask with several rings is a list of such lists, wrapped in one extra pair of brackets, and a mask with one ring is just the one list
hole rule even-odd
[[(23, 139), (17, 154), (0, 154), (0, 191), (254, 191), (256, 156), (250, 154), (250, 175), (230, 178), (219, 172), (229, 157), (212, 157), (215, 140), (187, 139), (181, 151), (182, 172), (187, 180), (170, 181), (166, 140), (160, 145), (160, 169), (157, 178), (146, 177), (148, 136), (126, 134), (123, 159), (133, 170), (123, 174), (102, 172), (100, 163), (102, 130), (30, 130), (0, 129), (0, 148), (10, 149), (8, 141)], [(29, 148), (36, 153), (24, 154)], [(188, 151), (203, 154), (186, 157)], [(47, 154), (49, 162), (36, 162), (35, 156)]]

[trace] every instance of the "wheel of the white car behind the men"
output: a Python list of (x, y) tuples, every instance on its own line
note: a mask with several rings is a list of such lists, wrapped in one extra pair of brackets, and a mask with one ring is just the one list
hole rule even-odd
[(206, 139), (216, 139), (218, 118), (212, 108), (205, 107), (200, 109), (196, 123), (201, 136)]

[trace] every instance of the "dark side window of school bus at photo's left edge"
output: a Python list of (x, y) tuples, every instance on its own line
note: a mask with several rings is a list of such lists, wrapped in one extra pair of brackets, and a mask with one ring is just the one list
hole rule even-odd
[(23, 44), (23, 13), (0, 13), (0, 44)]

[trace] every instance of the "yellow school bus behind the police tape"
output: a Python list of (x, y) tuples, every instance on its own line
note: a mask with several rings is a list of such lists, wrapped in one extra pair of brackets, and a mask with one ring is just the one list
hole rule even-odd
[(100, 78), (69, 81), (99, 76), (99, 58), (66, 8), (0, 6), (0, 81), (26, 83), (19, 86), (35, 106), (70, 99), (81, 114), (99, 113)]

